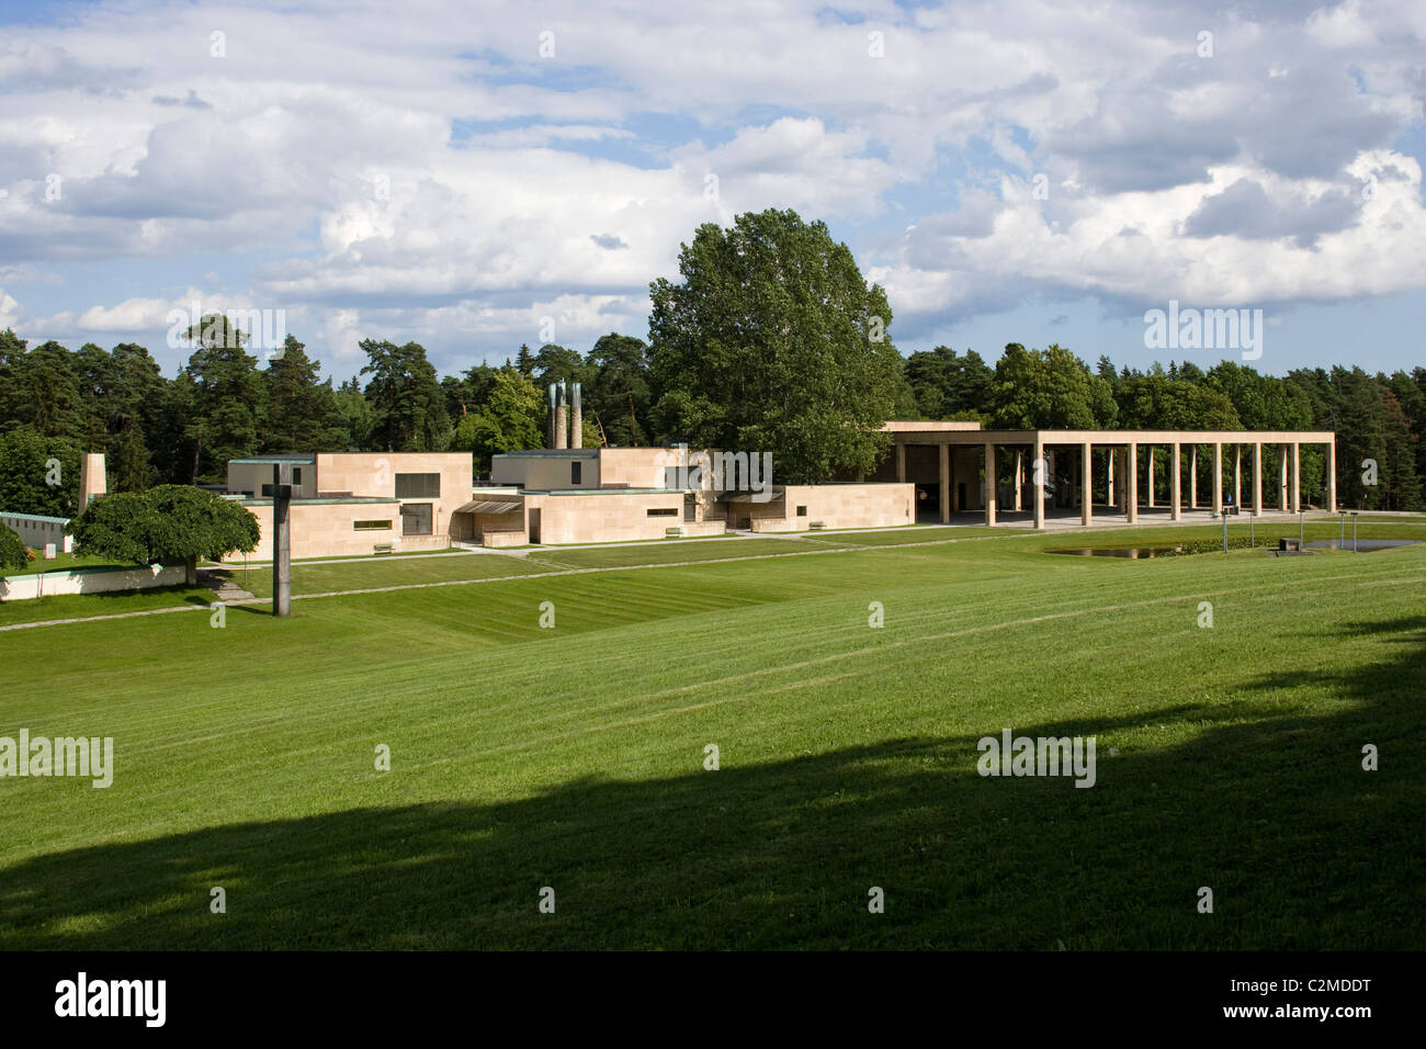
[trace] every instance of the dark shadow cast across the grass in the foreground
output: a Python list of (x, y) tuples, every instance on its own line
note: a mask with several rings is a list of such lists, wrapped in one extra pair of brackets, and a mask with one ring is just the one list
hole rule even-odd
[[(1098, 735), (1092, 789), (981, 778), (968, 735), (726, 754), (716, 772), (690, 754), (665, 779), (40, 856), (0, 872), (0, 948), (1420, 949), (1426, 619), (1362, 629), (1403, 644), (1365, 669), (1265, 675), (1226, 714), (1012, 726)], [(1285, 715), (1301, 686), (1339, 708)], [(1205, 718), (1188, 742), (1108, 754)], [(395, 802), (399, 771), (379, 782)]]

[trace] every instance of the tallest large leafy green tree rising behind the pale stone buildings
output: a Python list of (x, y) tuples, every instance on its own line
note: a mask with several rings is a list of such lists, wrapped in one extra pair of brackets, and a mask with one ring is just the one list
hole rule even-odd
[(700, 225), (679, 273), (650, 285), (660, 437), (771, 452), (784, 481), (870, 472), (901, 360), (847, 245), (794, 211), (747, 213)]

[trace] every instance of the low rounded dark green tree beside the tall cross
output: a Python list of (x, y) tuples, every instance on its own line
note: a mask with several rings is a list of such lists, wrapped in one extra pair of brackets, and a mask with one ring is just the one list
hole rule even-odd
[(240, 502), (202, 488), (163, 484), (94, 500), (66, 527), (76, 552), (135, 565), (183, 562), (198, 581), (198, 558), (218, 561), (258, 545), (258, 520)]

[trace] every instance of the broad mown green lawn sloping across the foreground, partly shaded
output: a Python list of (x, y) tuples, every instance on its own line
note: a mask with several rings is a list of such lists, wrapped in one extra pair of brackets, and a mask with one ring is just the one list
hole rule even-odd
[[(0, 779), (0, 949), (1426, 946), (1426, 545), (1121, 561), (1044, 551), (1218, 529), (944, 531), (0, 634), (0, 735), (117, 751), (108, 789)], [(294, 579), (495, 565), (555, 571)], [(1004, 728), (1095, 736), (1097, 785), (978, 776)]]

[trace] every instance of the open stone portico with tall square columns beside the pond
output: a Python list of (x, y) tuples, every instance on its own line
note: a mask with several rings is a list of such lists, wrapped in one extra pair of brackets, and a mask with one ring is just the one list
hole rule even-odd
[(1246, 508), (1245, 487), (1253, 514), (1296, 514), (1305, 447), (1325, 450), (1320, 508), (1336, 510), (1332, 431), (968, 427), (974, 424), (888, 425), (896, 452), (886, 480), (917, 485), (920, 520), (951, 524), (974, 514), (988, 525), (1035, 528), (1075, 517), (1081, 525), (1097, 518), (1181, 521)]

